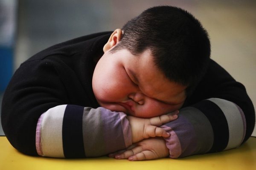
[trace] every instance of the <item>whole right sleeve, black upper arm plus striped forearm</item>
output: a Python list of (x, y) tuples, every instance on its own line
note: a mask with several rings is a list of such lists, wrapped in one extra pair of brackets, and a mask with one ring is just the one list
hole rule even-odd
[(179, 118), (162, 126), (171, 158), (239, 147), (252, 134), (255, 111), (244, 86), (211, 61)]

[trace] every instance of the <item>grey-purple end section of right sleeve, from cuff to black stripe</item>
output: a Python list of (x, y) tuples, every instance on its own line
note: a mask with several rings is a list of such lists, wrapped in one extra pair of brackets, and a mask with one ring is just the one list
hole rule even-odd
[[(207, 117), (194, 107), (180, 109), (179, 118), (163, 126), (171, 136), (166, 139), (166, 146), (172, 142), (178, 142), (175, 147), (168, 147), (170, 153), (177, 153), (180, 145), (180, 155), (173, 158), (207, 153), (213, 144), (213, 130)], [(169, 129), (167, 128), (169, 127)], [(178, 138), (178, 139), (177, 139)], [(171, 142), (171, 143), (170, 143)]]

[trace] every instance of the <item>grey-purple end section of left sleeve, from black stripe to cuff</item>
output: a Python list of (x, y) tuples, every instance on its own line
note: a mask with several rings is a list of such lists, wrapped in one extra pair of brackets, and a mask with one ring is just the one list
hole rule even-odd
[(132, 143), (126, 115), (103, 107), (84, 108), (83, 138), (87, 157), (105, 156)]

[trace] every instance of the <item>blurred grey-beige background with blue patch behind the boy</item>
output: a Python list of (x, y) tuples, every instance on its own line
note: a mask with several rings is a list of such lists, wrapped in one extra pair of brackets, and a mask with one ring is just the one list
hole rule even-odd
[(121, 28), (158, 5), (181, 7), (201, 21), (211, 38), (212, 59), (245, 85), (256, 107), (255, 0), (0, 0), (0, 103), (13, 72), (35, 53)]

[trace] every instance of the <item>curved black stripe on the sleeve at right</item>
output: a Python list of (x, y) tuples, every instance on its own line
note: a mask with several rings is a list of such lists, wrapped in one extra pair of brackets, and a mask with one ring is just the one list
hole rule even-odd
[(227, 119), (222, 110), (209, 100), (200, 101), (193, 105), (206, 115), (212, 125), (214, 141), (209, 152), (219, 152), (227, 147), (229, 141), (229, 129)]

